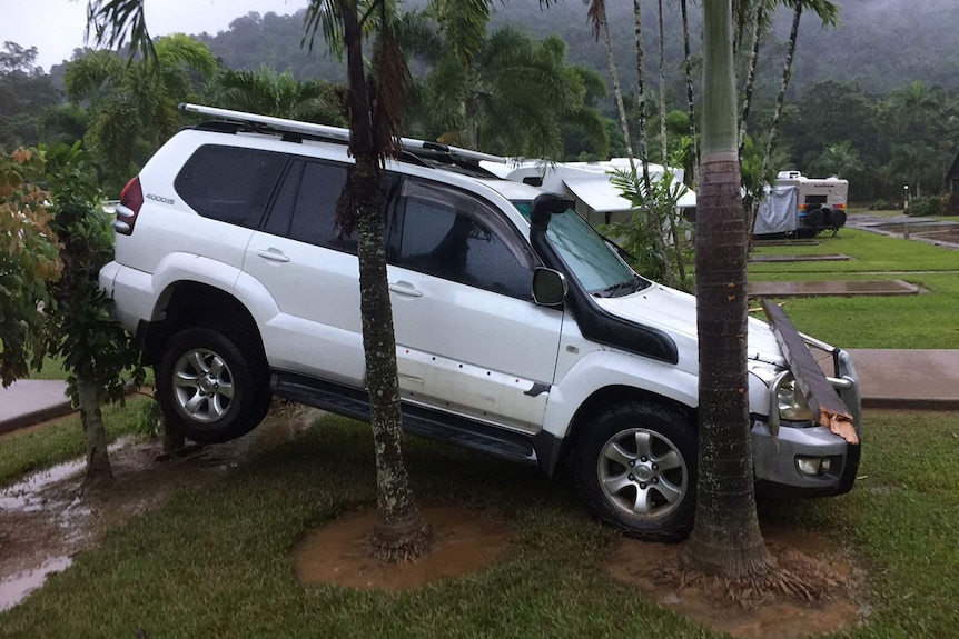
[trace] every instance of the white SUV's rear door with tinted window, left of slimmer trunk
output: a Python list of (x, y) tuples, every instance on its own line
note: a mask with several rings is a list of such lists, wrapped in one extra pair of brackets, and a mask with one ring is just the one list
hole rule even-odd
[(261, 327), (270, 366), (362, 387), (365, 379), (356, 236), (336, 228), (348, 167), (296, 159), (244, 272), (269, 291), (279, 313)]

